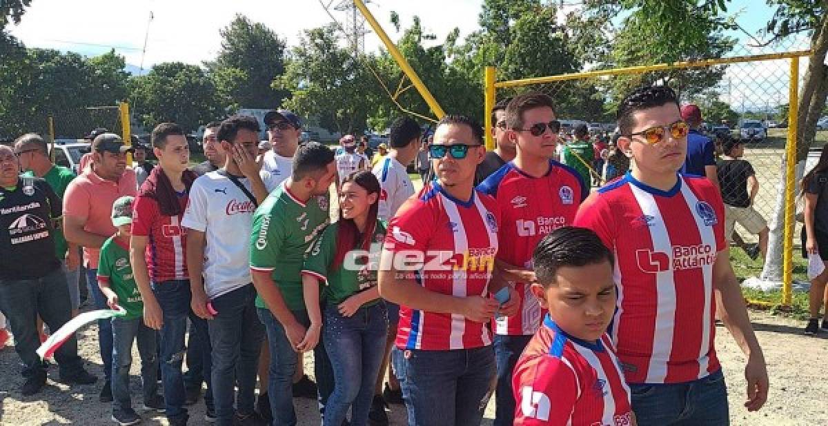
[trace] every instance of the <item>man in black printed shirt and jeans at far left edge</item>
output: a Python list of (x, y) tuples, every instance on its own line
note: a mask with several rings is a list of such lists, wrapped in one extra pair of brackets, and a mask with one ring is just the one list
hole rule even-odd
[[(33, 395), (46, 385), (46, 367), (35, 352), (40, 346), (36, 318), (57, 330), (72, 317), (53, 237), (62, 203), (46, 180), (19, 177), (19, 170), (12, 148), (0, 146), (0, 310), (24, 364), (22, 394)], [(55, 360), (60, 381), (89, 385), (97, 380), (84, 370), (74, 335), (55, 352)]]

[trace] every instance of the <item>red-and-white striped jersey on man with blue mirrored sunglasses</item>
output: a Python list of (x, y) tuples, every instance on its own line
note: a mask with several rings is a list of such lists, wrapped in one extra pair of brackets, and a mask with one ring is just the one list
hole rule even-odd
[[(388, 225), (383, 248), (395, 256), (419, 255), (416, 280), (428, 290), (454, 296), (489, 294), (498, 252), (499, 212), (489, 195), (474, 190), (468, 202), (427, 184), (402, 204)], [(396, 259), (395, 259), (396, 261)], [(492, 344), (484, 323), (400, 305), (397, 347), (445, 351)]]

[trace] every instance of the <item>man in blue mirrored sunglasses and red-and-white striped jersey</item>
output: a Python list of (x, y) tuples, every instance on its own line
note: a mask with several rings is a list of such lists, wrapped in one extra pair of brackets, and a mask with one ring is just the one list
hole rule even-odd
[[(379, 291), (401, 305), (394, 371), (409, 424), (479, 424), (495, 375), (485, 323), (498, 302), (489, 285), (498, 251), (499, 211), (474, 189), (483, 132), (467, 117), (445, 116), (429, 147), (436, 180), (392, 218)], [(390, 267), (386, 267), (390, 266)], [(500, 309), (513, 314), (517, 294)]]

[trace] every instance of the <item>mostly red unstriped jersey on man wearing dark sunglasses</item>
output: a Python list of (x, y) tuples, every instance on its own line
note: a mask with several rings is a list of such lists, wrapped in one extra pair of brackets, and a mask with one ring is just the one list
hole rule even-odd
[[(588, 195), (578, 172), (557, 161), (550, 161), (549, 171), (539, 178), (524, 174), (509, 162), (478, 189), (498, 202), (498, 259), (528, 269), (532, 269), (532, 251), (537, 243), (557, 228), (571, 225), (578, 206)], [(530, 287), (514, 283), (521, 295), (520, 314), (498, 317), (493, 323), (495, 333), (531, 336), (541, 326), (544, 312)]]

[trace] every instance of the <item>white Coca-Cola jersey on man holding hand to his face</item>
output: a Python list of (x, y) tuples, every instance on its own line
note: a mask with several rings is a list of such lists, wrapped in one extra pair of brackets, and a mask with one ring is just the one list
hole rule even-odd
[[(260, 172), (268, 192), (281, 176)], [(250, 181), (239, 178), (251, 194)], [(214, 299), (253, 282), (250, 275), (250, 232), (256, 205), (219, 171), (195, 179), (181, 226), (205, 232), (204, 280), (207, 297)]]

